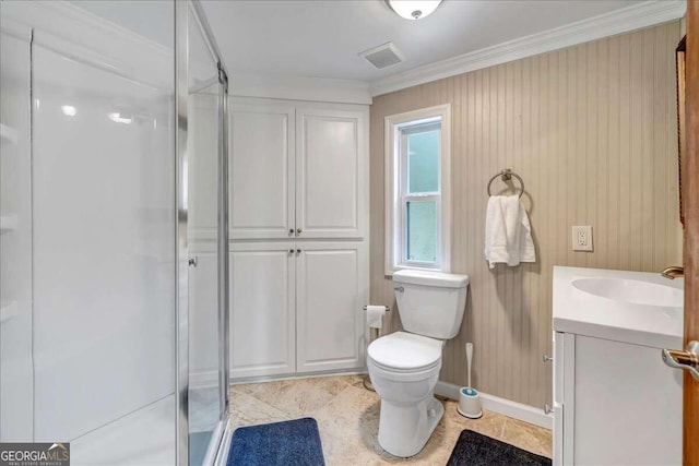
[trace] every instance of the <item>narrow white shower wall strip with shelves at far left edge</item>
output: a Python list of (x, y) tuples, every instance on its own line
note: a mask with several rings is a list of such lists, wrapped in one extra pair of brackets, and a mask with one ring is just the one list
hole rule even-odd
[[(4, 3), (4, 2), (3, 2)], [(0, 16), (4, 12), (0, 4)], [(0, 442), (32, 440), (29, 31), (0, 34)], [(12, 228), (3, 219), (13, 218)]]

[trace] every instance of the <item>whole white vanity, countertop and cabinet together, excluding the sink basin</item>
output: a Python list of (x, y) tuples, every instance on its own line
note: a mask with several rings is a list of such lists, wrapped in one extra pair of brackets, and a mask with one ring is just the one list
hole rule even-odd
[(682, 347), (682, 308), (576, 288), (590, 277), (680, 286), (660, 274), (554, 268), (554, 464), (680, 465), (683, 373), (661, 349)]

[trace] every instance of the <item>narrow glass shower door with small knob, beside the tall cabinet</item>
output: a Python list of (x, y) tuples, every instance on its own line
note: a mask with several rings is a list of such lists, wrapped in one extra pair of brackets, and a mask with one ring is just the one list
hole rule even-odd
[(188, 9), (189, 464), (211, 464), (228, 419), (226, 77), (198, 3)]

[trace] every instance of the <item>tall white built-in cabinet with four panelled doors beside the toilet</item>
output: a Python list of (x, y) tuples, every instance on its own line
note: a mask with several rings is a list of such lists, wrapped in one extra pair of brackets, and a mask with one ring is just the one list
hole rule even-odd
[(230, 108), (232, 379), (362, 369), (368, 107)]

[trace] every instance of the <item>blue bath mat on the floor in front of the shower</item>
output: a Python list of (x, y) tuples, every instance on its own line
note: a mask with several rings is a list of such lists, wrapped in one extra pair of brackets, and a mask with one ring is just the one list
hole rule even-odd
[(324, 466), (313, 418), (241, 427), (233, 432), (226, 466)]

